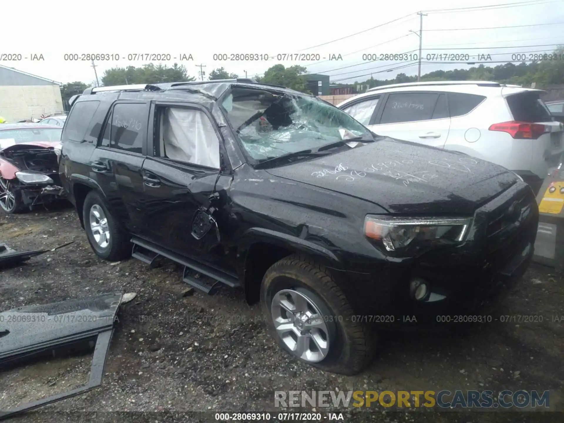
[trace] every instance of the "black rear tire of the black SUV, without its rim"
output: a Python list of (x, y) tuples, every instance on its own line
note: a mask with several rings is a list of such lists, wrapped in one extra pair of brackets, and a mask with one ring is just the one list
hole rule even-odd
[[(94, 233), (92, 232), (90, 210), (93, 206), (101, 208), (107, 220), (109, 240), (108, 244), (105, 246), (100, 246), (98, 242), (96, 242)], [(88, 242), (98, 257), (113, 262), (123, 260), (131, 255), (132, 244), (130, 243), (130, 237), (118, 226), (98, 192), (90, 191), (88, 195), (86, 195), (82, 205), (82, 218)]]

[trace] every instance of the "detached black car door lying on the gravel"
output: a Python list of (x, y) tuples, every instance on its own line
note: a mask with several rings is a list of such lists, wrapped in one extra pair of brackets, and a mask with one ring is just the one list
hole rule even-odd
[(94, 348), (86, 385), (10, 409), (0, 409), (0, 420), (102, 385), (109, 344), (123, 303), (135, 293), (108, 293), (46, 305), (17, 307), (0, 313), (0, 372), (45, 356)]

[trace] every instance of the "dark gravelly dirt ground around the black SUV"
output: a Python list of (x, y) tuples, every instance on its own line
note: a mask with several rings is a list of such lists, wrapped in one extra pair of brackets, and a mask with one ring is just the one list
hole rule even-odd
[[(470, 332), (382, 333), (371, 367), (346, 377), (321, 372), (279, 350), (265, 332), (259, 307), (246, 305), (237, 290), (183, 297), (188, 287), (174, 263), (151, 269), (135, 259), (117, 264), (98, 259), (69, 206), (0, 215), (0, 241), (17, 250), (74, 241), (1, 271), (0, 310), (105, 292), (137, 293), (120, 313), (103, 385), (15, 417), (17, 422), (213, 421), (213, 413), (227, 411), (270, 411), (275, 421), (280, 411), (274, 408), (275, 390), (337, 388), (550, 390), (550, 410), (559, 411), (544, 412), (539, 420), (540, 413), (530, 409), (517, 414), (383, 407), (354, 413), (349, 408), (340, 410), (345, 422), (564, 421), (564, 284), (549, 268), (531, 266), (493, 321), (475, 324)], [(503, 323), (502, 315), (543, 316), (543, 321)], [(56, 359), (0, 373), (0, 410), (80, 386), (89, 360)], [(317, 411), (328, 421), (327, 410)]]

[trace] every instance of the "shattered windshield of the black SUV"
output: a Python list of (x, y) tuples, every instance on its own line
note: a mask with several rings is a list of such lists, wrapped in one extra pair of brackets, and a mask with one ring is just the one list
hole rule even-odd
[(237, 87), (223, 101), (227, 120), (257, 161), (348, 140), (374, 140), (349, 114), (314, 97)]

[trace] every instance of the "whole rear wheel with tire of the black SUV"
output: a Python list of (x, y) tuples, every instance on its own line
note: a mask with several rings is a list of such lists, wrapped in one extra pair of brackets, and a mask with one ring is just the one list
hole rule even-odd
[(131, 255), (129, 236), (122, 230), (96, 191), (90, 191), (82, 205), (82, 219), (92, 250), (108, 261)]

